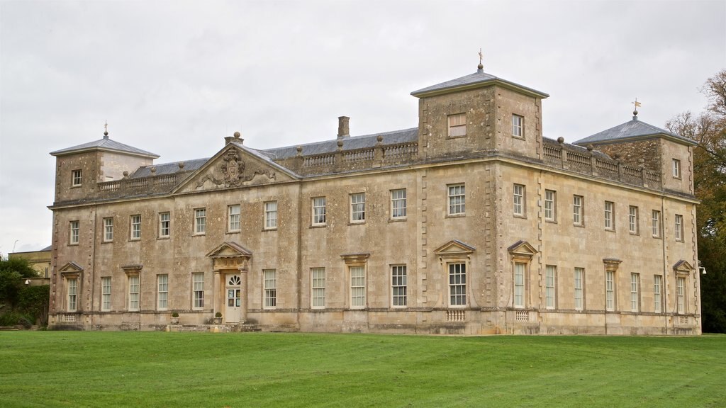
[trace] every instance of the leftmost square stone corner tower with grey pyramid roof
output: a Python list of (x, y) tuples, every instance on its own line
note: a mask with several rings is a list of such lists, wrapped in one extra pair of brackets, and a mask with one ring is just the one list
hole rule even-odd
[(102, 139), (50, 153), (56, 158), (55, 202), (83, 200), (96, 191), (96, 184), (123, 178), (141, 166), (154, 163), (146, 150), (116, 142), (104, 132)]

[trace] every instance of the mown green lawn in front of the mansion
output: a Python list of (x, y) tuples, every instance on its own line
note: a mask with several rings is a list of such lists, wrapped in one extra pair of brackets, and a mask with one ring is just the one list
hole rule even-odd
[(724, 407), (726, 336), (0, 332), (0, 407)]

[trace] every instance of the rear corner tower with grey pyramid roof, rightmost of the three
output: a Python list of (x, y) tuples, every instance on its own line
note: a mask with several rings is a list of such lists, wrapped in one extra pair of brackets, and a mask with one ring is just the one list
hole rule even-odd
[(693, 147), (696, 142), (637, 118), (574, 142), (592, 145), (628, 166), (656, 172), (665, 190), (693, 195)]

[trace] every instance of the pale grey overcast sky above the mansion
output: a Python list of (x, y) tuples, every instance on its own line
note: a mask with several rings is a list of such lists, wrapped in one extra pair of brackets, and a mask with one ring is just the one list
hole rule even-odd
[[(411, 91), (476, 71), (544, 91), (574, 142), (701, 112), (726, 0), (0, 0), (0, 253), (50, 245), (55, 158), (111, 139), (161, 157), (417, 126)], [(17, 244), (15, 243), (17, 240)]]

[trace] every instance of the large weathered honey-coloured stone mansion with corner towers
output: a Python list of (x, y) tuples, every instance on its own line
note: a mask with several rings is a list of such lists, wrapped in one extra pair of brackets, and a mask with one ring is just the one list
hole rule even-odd
[(695, 142), (637, 112), (545, 138), (548, 95), (481, 65), (412, 96), (417, 126), (380, 134), (340, 117), (335, 139), (235, 133), (179, 163), (107, 133), (52, 152), (49, 325), (701, 333)]

